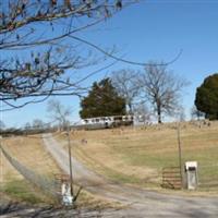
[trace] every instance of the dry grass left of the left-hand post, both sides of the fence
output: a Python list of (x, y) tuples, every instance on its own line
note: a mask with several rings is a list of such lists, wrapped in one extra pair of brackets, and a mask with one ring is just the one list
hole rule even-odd
[[(3, 138), (4, 149), (19, 162), (32, 171), (53, 177), (60, 169), (41, 146), (40, 135), (29, 137)], [(0, 191), (10, 195), (13, 199), (28, 203), (44, 203), (52, 201), (45, 196), (38, 189), (23, 178), (1, 154), (1, 187)]]

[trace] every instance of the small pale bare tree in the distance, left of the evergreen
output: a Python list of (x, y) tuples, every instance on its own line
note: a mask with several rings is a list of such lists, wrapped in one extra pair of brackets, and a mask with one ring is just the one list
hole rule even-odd
[(71, 109), (61, 105), (59, 100), (49, 100), (47, 111), (52, 119), (59, 122), (60, 129), (65, 129), (69, 125), (69, 117), (71, 114)]

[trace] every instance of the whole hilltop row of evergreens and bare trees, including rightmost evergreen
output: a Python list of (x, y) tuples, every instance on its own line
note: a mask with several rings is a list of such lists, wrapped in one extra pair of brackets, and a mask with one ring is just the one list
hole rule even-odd
[[(144, 71), (124, 69), (110, 77), (95, 82), (81, 100), (81, 118), (119, 114), (155, 114), (161, 123), (165, 116), (184, 120), (182, 95), (189, 82), (167, 69), (150, 62)], [(196, 88), (192, 118), (218, 119), (218, 74), (209, 75)]]

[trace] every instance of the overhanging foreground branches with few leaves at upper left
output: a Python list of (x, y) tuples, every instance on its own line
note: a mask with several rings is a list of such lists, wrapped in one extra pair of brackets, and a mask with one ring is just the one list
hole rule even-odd
[[(116, 59), (81, 37), (87, 28), (135, 0), (5, 0), (0, 2), (0, 100), (7, 110), (51, 95), (82, 95), (80, 69), (104, 56)], [(100, 56), (94, 55), (100, 51)], [(71, 69), (70, 73), (65, 73)], [(29, 97), (44, 97), (34, 99)], [(17, 99), (26, 102), (17, 105)], [(32, 99), (32, 100), (29, 100)], [(5, 108), (5, 106), (8, 106)]]

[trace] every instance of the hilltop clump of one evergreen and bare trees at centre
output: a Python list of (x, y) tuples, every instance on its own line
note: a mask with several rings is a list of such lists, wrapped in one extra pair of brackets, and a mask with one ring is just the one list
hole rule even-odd
[(186, 80), (158, 62), (150, 62), (144, 71), (116, 71), (93, 84), (81, 101), (80, 114), (93, 118), (153, 112), (161, 123), (164, 116), (182, 112), (181, 95), (187, 85)]

